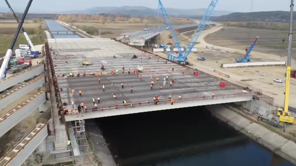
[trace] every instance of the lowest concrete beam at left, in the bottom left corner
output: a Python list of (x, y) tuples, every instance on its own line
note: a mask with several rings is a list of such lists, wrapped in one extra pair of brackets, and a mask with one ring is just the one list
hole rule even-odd
[(23, 139), (21, 139), (13, 149), (9, 150), (0, 159), (0, 166), (19, 166), (29, 157), (29, 155), (46, 138), (47, 123), (36, 125)]

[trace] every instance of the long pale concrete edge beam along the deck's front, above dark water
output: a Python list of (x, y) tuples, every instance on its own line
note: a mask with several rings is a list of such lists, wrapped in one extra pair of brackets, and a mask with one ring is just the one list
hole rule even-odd
[[(184, 99), (182, 99), (184, 100)], [(154, 105), (153, 102), (149, 106), (141, 106), (141, 107), (134, 107), (128, 108), (120, 107), (119, 109), (113, 110), (103, 110), (98, 112), (88, 112), (83, 114), (83, 119), (91, 119), (91, 118), (100, 118), (100, 117), (107, 117), (107, 116), (115, 116), (115, 115), (125, 115), (131, 113), (142, 113), (142, 112), (149, 112), (149, 111), (158, 111), (158, 110), (168, 110), (168, 109), (175, 109), (175, 108), (186, 108), (186, 107), (195, 107), (201, 105), (213, 105), (213, 104), (222, 104), (222, 103), (229, 103), (229, 102), (242, 102), (250, 100), (250, 96), (245, 95), (236, 95), (235, 97), (221, 97), (221, 98), (214, 98), (214, 99), (200, 99), (200, 100), (192, 100), (187, 102), (178, 102), (178, 99), (175, 100), (173, 105), (170, 102), (164, 104), (161, 103), (160, 105)], [(135, 104), (136, 105), (136, 104)], [(66, 121), (75, 121), (77, 120), (77, 115), (66, 115)]]

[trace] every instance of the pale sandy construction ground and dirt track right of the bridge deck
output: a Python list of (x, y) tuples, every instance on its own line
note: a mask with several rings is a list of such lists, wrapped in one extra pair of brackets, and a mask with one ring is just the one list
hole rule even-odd
[[(285, 66), (265, 66), (265, 67), (246, 67), (246, 68), (228, 68), (222, 69), (221, 64), (224, 63), (235, 63), (236, 58), (242, 58), (244, 56), (245, 51), (239, 48), (228, 48), (217, 46), (211, 43), (207, 43), (204, 38), (205, 36), (212, 34), (221, 30), (220, 26), (213, 27), (209, 30), (203, 31), (199, 38), (199, 44), (196, 45), (199, 51), (203, 51), (203, 53), (191, 53), (188, 56), (188, 61), (191, 63), (194, 68), (197, 68), (201, 71), (206, 73), (212, 74), (217, 77), (221, 77), (226, 79), (229, 82), (241, 85), (243, 87), (250, 87), (253, 90), (262, 89), (265, 95), (274, 97), (274, 105), (282, 106), (284, 104), (284, 90), (285, 90), (285, 83), (276, 83), (273, 82), (274, 79), (280, 78), (283, 79), (285, 82)], [(222, 31), (223, 32), (223, 31)], [(167, 32), (165, 32), (167, 33)], [(215, 33), (214, 33), (215, 34)], [(162, 34), (164, 37), (168, 34)], [(258, 34), (260, 35), (260, 34)], [(248, 38), (248, 37), (245, 37)], [(190, 39), (189, 38), (182, 38), (179, 35), (179, 40), (181, 44), (188, 44)], [(214, 39), (213, 39), (214, 40)], [(217, 40), (221, 40), (221, 38), (217, 37)], [(169, 42), (171, 39), (165, 39), (165, 42)], [(227, 43), (227, 41), (221, 43)], [(250, 43), (249, 43), (250, 44)], [(218, 48), (221, 51), (216, 50), (208, 50), (204, 49), (204, 46), (212, 46), (213, 48)], [(166, 53), (157, 53), (162, 57), (167, 57)], [(198, 61), (197, 58), (199, 56), (204, 56), (206, 61)], [(267, 54), (267, 53), (260, 53), (260, 52), (252, 52), (251, 59), (253, 61), (279, 61), (286, 60), (287, 56), (278, 56), (275, 54)], [(296, 62), (292, 60), (292, 68), (296, 69)], [(223, 77), (219, 75), (214, 70), (220, 71), (224, 74), (230, 76), (230, 78)], [(243, 79), (250, 79), (251, 81), (243, 82)], [(290, 87), (290, 100), (289, 105), (292, 107), (296, 107), (296, 103), (294, 99), (296, 98), (296, 79), (291, 79), (291, 87)]]

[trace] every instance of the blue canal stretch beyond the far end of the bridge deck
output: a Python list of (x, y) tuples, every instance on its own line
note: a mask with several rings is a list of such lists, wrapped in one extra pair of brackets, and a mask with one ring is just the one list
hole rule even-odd
[[(62, 25), (58, 24), (57, 22), (53, 20), (45, 20), (47, 27), (49, 30), (68, 30), (67, 28), (63, 27)], [(56, 39), (65, 39), (65, 38), (80, 38), (78, 35), (76, 35), (73, 32), (51, 32), (53, 37)]]

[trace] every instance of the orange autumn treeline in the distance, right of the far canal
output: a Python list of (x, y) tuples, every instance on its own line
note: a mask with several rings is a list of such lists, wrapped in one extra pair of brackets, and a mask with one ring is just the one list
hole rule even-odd
[[(158, 19), (158, 17), (131, 17), (129, 15), (122, 14), (60, 14), (58, 20), (67, 23), (73, 22), (98, 22), (101, 24), (107, 23), (150, 23), (157, 24), (158, 22), (164, 22), (164, 19)], [(174, 19), (170, 17), (173, 24), (192, 24), (194, 21), (189, 19)]]

